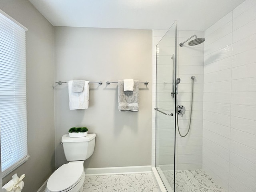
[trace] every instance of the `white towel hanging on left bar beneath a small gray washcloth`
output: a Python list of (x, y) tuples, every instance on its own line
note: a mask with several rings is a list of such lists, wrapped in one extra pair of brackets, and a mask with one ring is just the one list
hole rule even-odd
[(89, 106), (89, 81), (84, 81), (82, 92), (72, 92), (73, 81), (68, 81), (69, 109), (88, 109)]

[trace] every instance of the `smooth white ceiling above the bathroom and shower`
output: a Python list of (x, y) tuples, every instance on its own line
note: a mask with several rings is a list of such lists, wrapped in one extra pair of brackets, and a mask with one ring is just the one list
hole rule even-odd
[(54, 26), (206, 30), (244, 0), (29, 0)]

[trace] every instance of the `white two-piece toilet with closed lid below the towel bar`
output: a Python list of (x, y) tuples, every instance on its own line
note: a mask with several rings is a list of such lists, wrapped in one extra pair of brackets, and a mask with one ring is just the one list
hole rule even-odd
[(87, 134), (86, 137), (62, 136), (64, 154), (69, 162), (49, 177), (45, 192), (82, 192), (84, 161), (94, 152), (95, 137), (95, 133)]

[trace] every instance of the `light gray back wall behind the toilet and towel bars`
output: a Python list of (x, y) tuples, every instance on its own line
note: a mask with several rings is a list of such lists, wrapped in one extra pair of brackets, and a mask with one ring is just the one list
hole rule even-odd
[(96, 133), (94, 154), (85, 168), (151, 164), (151, 84), (140, 84), (140, 111), (119, 112), (117, 84), (132, 78), (152, 82), (151, 30), (55, 27), (55, 80), (90, 84), (89, 108), (69, 110), (68, 84), (54, 89), (56, 168), (66, 163), (63, 134), (73, 126)]

